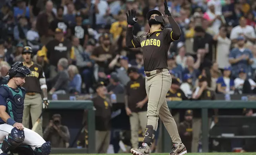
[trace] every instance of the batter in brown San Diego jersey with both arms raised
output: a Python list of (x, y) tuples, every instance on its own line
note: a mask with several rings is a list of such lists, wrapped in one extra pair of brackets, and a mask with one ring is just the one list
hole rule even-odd
[(180, 38), (181, 30), (168, 10), (166, 0), (164, 5), (165, 14), (168, 16), (172, 29), (165, 28), (165, 19), (160, 11), (151, 10), (147, 13), (150, 30), (136, 37), (132, 34), (133, 25), (137, 22), (136, 11), (129, 10), (126, 13), (128, 23), (126, 45), (130, 48), (142, 47), (146, 75), (145, 85), (148, 96), (144, 143), (139, 148), (131, 149), (131, 153), (134, 155), (150, 153), (149, 146), (153, 142), (159, 117), (174, 143), (170, 155), (183, 155), (187, 152), (186, 147), (180, 140), (175, 120), (169, 111), (165, 98), (172, 83), (171, 75), (167, 70), (167, 52), (171, 42)]

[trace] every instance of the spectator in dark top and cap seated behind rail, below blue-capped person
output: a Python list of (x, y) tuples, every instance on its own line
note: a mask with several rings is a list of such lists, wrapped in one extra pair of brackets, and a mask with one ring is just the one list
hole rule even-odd
[(119, 78), (115, 72), (112, 72), (109, 76), (109, 85), (107, 86), (109, 94), (123, 94), (124, 85), (119, 83)]

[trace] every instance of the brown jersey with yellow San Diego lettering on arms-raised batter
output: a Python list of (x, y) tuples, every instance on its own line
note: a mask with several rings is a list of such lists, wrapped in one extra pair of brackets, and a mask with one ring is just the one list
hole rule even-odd
[(144, 33), (132, 39), (132, 45), (135, 48), (142, 47), (144, 69), (146, 72), (167, 68), (167, 52), (172, 38), (172, 29), (165, 28), (152, 33)]

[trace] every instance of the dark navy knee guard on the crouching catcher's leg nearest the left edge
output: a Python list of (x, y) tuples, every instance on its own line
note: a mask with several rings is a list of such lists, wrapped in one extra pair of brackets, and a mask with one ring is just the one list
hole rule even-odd
[(13, 128), (11, 133), (8, 134), (8, 138), (4, 138), (2, 144), (0, 144), (0, 148), (4, 153), (8, 153), (11, 150), (14, 150), (17, 146), (19, 146), (25, 139), (25, 134), (23, 130), (18, 130)]

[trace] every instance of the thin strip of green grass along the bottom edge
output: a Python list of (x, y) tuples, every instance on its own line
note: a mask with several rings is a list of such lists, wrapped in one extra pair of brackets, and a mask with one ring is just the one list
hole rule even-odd
[[(122, 153), (122, 154), (51, 154), (51, 155), (132, 155), (132, 154)], [(151, 153), (150, 155), (169, 155), (169, 153)], [(185, 155), (256, 155), (256, 152), (252, 152), (252, 153), (187, 153)]]

